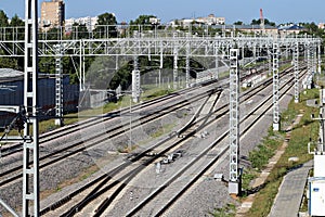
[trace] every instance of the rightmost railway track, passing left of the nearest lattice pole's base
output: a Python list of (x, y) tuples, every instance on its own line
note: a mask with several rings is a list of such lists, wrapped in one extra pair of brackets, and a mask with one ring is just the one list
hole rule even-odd
[[(282, 86), (282, 94), (280, 98), (283, 98), (291, 88), (292, 85), (286, 86), (290, 82), (286, 82), (284, 86)], [(240, 131), (240, 137), (244, 137), (249, 129), (251, 129), (256, 123), (258, 123), (268, 112), (272, 111), (272, 95), (268, 97), (264, 101), (259, 103), (259, 106), (256, 106), (252, 111), (250, 111), (244, 118), (240, 119), (240, 124), (243, 125), (245, 122), (248, 122), (246, 124), (245, 128), (242, 129)], [(256, 116), (256, 114), (259, 114)], [(183, 168), (179, 169), (177, 174), (174, 174), (170, 179), (166, 180), (161, 186), (155, 189), (150, 195), (147, 195), (143, 201), (141, 201), (136, 206), (134, 206), (130, 212), (128, 212), (123, 216), (134, 216), (134, 215), (140, 215), (139, 212), (143, 209), (144, 207), (155, 207), (154, 205), (154, 200), (159, 201), (159, 204), (161, 204), (161, 201), (164, 199), (168, 197), (168, 200), (165, 200), (165, 204), (154, 210), (151, 210), (151, 216), (161, 216), (165, 214), (168, 208), (170, 208), (184, 193), (186, 193), (193, 184), (209, 169), (212, 167), (216, 167), (216, 164), (220, 158), (222, 158), (224, 155), (227, 154), (229, 151), (229, 145), (226, 145), (226, 140), (227, 140), (227, 135), (229, 131), (223, 132), (217, 140), (214, 140), (210, 145), (205, 148), (200, 153), (197, 154), (195, 158), (193, 158), (191, 162), (188, 162)], [(223, 144), (222, 146), (217, 146), (218, 144)], [(216, 154), (218, 153), (218, 154)], [(204, 156), (213, 156), (211, 158), (205, 158)], [(200, 163), (198, 163), (202, 161)], [(192, 173), (192, 178), (186, 182), (182, 183), (182, 187), (177, 187), (173, 189), (178, 189), (176, 191), (168, 191), (165, 194), (162, 193), (164, 191), (167, 191), (166, 189), (178, 179), (181, 179), (180, 177), (184, 175), (190, 168), (197, 163), (198, 165), (204, 165), (202, 168), (197, 169), (196, 173), (193, 175)], [(187, 173), (188, 174), (188, 173)], [(180, 184), (179, 184), (180, 186)], [(164, 194), (164, 195), (161, 195)], [(157, 199), (159, 197), (159, 199)], [(148, 209), (148, 208), (147, 208)], [(100, 205), (99, 208), (96, 209), (96, 213), (94, 216), (101, 216), (102, 214), (105, 213), (105, 207), (103, 205)], [(142, 215), (147, 215), (148, 213), (142, 213)]]

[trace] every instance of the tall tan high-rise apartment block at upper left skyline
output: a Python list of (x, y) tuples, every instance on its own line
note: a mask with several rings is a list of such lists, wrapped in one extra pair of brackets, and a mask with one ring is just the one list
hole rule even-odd
[(63, 0), (43, 1), (41, 3), (40, 28), (62, 27), (65, 20), (65, 3)]

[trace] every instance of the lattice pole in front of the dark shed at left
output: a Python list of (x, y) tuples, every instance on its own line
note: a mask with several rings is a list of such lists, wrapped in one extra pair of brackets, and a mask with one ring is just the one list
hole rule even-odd
[(55, 125), (63, 126), (62, 44), (57, 44), (55, 59)]

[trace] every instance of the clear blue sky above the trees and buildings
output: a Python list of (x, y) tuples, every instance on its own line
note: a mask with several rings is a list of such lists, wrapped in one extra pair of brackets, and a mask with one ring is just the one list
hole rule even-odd
[[(43, 0), (38, 0), (39, 4)], [(325, 22), (325, 0), (64, 0), (66, 18), (114, 13), (117, 22), (129, 22), (139, 15), (156, 15), (167, 23), (174, 18), (191, 18), (214, 14), (226, 24), (243, 21), (249, 24), (264, 17), (276, 24)], [(0, 10), (11, 18), (24, 17), (25, 0), (0, 0)], [(40, 10), (40, 7), (39, 7)]]

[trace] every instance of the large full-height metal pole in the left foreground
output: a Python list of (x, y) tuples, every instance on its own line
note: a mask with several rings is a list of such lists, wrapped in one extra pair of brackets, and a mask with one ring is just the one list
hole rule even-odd
[[(24, 136), (32, 140), (23, 148), (23, 216), (39, 216), (39, 135), (38, 135), (38, 1), (25, 1), (24, 106), (29, 116)], [(32, 132), (30, 131), (32, 129)], [(30, 161), (32, 161), (31, 164)], [(31, 182), (31, 183), (30, 183)], [(32, 209), (29, 206), (34, 206)], [(29, 214), (31, 212), (31, 214)]]

